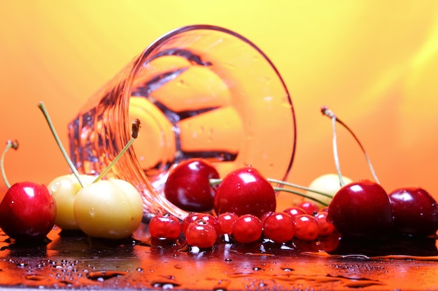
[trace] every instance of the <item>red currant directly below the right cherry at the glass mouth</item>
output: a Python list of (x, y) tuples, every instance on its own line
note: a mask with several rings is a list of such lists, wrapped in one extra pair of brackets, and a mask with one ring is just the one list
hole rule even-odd
[(243, 214), (233, 225), (232, 236), (241, 244), (249, 244), (262, 236), (262, 222), (253, 214)]

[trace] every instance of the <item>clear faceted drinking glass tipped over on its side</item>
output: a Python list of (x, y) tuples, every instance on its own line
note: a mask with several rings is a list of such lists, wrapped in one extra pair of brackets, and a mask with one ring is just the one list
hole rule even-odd
[(185, 211), (166, 200), (169, 170), (205, 158), (221, 177), (243, 165), (288, 177), (295, 154), (295, 114), (274, 65), (233, 31), (193, 25), (155, 40), (88, 100), (69, 124), (79, 172), (98, 174), (142, 129), (110, 175), (136, 186), (145, 216)]

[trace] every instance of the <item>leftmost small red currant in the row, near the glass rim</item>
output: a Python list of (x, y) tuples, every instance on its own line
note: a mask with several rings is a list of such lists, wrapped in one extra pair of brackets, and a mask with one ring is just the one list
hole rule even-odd
[(181, 223), (170, 214), (158, 214), (150, 220), (149, 232), (157, 239), (177, 239), (181, 234)]

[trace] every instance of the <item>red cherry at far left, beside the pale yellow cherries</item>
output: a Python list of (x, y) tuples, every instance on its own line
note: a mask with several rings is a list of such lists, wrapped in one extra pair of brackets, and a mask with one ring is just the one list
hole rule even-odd
[(43, 184), (10, 186), (0, 203), (0, 227), (17, 241), (41, 241), (55, 225), (56, 204)]

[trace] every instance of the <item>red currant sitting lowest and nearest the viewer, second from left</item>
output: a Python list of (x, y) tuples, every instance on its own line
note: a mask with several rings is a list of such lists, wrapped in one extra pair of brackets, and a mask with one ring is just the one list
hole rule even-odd
[(185, 239), (189, 246), (211, 248), (218, 239), (218, 234), (213, 225), (199, 220), (188, 225), (187, 230), (185, 230)]

